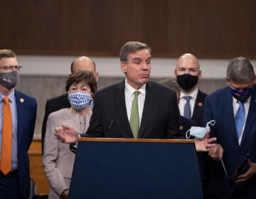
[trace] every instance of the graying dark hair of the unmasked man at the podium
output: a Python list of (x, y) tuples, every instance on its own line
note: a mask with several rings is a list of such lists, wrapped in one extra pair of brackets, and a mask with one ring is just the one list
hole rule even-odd
[(127, 57), (129, 53), (135, 53), (138, 50), (149, 50), (149, 53), (151, 53), (151, 48), (146, 43), (140, 43), (138, 41), (129, 41), (125, 43), (119, 53), (120, 61), (127, 63)]

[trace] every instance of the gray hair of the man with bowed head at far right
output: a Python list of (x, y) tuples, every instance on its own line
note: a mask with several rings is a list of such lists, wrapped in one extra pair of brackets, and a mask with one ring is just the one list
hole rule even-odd
[(255, 72), (253, 70), (250, 60), (247, 58), (239, 57), (233, 58), (228, 64), (228, 70), (226, 74), (228, 82), (245, 83), (255, 80)]

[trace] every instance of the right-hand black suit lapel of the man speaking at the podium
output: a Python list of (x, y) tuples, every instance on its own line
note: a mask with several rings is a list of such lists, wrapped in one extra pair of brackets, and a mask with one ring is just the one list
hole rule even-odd
[(151, 82), (146, 84), (146, 96), (142, 112), (142, 122), (139, 127), (139, 137), (142, 137), (146, 129), (147, 123), (149, 122), (149, 117), (151, 115), (154, 106), (154, 87)]

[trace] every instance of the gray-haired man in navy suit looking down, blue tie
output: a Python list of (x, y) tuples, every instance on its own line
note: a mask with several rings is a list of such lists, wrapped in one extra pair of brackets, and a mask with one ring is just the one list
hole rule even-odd
[(210, 198), (256, 198), (256, 85), (255, 72), (246, 58), (228, 65), (228, 87), (206, 97), (205, 123), (214, 119), (211, 136), (217, 145), (213, 158)]

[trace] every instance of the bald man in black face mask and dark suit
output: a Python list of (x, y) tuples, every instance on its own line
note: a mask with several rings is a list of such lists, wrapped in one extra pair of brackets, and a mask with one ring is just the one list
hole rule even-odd
[[(177, 78), (178, 85), (181, 87), (180, 101), (178, 104), (181, 115), (186, 117), (186, 96), (190, 96), (191, 99), (189, 100), (189, 107), (191, 110), (191, 116), (188, 117), (188, 119), (196, 122), (199, 127), (203, 127), (203, 109), (206, 93), (203, 93), (198, 89), (198, 80), (201, 79), (202, 72), (196, 56), (191, 53), (181, 55), (176, 63), (174, 76)], [(205, 152), (198, 152), (197, 156), (203, 185), (203, 198), (208, 198), (211, 160)]]

